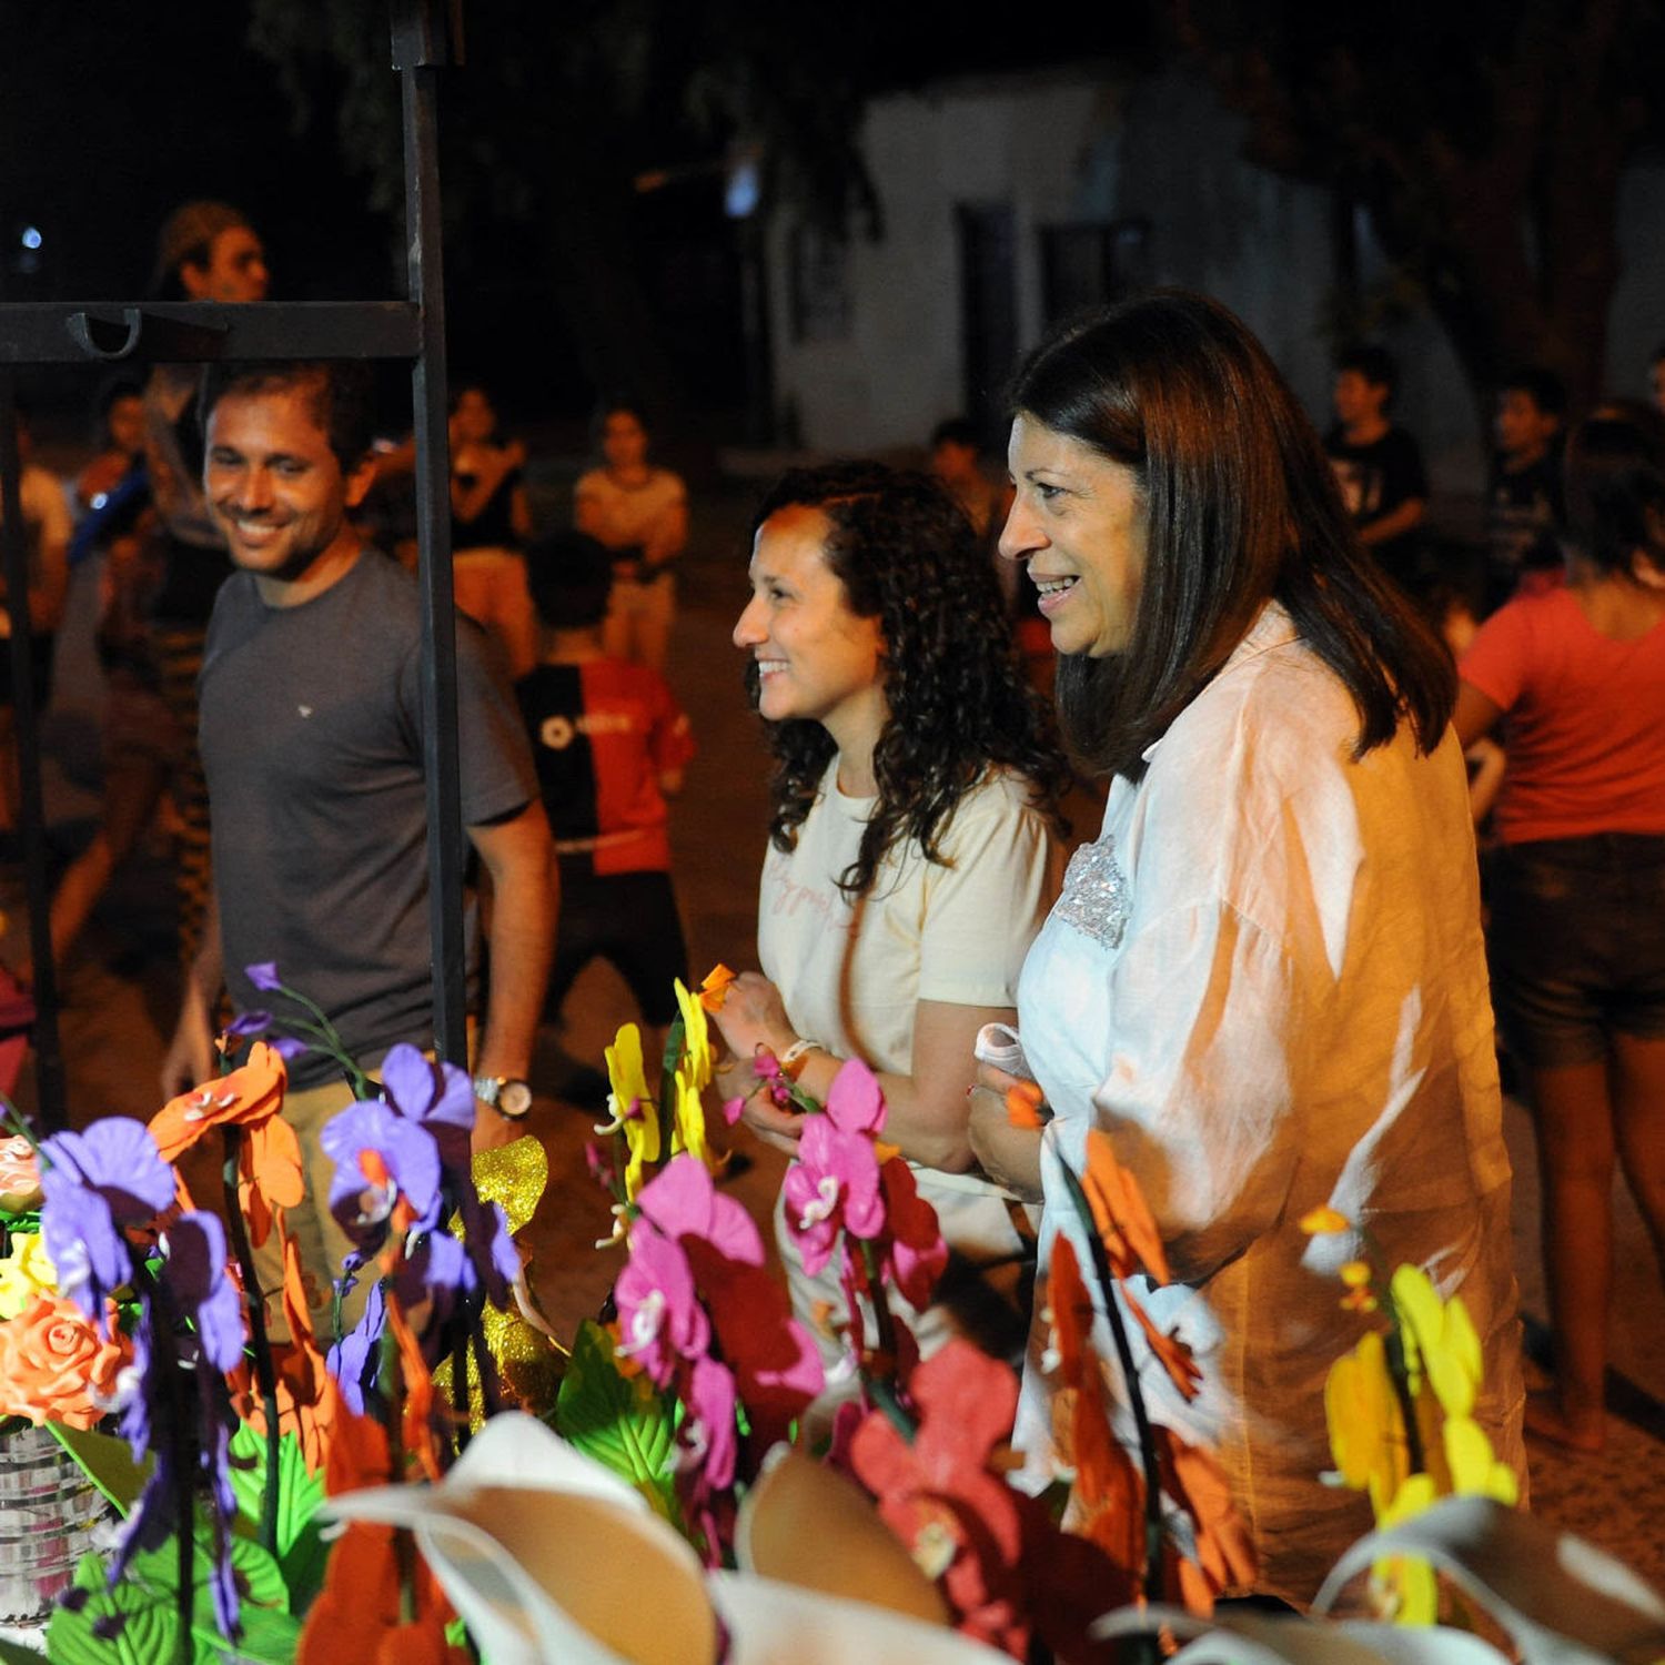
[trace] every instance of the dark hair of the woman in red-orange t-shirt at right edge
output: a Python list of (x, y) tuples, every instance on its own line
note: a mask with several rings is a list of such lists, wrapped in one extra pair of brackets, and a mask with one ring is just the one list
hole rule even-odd
[(1665, 416), (1613, 400), (1567, 448), (1567, 521), (1580, 553), (1628, 574), (1640, 549), (1665, 571)]

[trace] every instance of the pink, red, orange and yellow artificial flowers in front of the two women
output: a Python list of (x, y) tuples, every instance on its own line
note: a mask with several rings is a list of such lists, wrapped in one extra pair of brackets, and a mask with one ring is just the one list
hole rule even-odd
[[(823, 1513), (849, 1517), (849, 1495), (828, 1489), (839, 1482), (889, 1527), (929, 1585), (931, 1597), (922, 1598), (904, 1580), (899, 1610), (929, 1613), (934, 1602), (937, 1617), (961, 1635), (1029, 1660), (1114, 1657), (1116, 1647), (1131, 1648), (1139, 1638), (1149, 1645), (1162, 1637), (1170, 1648), (1175, 1637), (1207, 1637), (1214, 1600), (1252, 1585), (1254, 1550), (1212, 1455), (1152, 1420), (1139, 1390), (1129, 1325), (1142, 1332), (1154, 1367), (1184, 1399), (1197, 1392), (1199, 1377), (1184, 1345), (1151, 1322), (1129, 1287), (1134, 1274), (1161, 1284), (1169, 1272), (1151, 1212), (1111, 1141), (1089, 1134), (1079, 1175), (1057, 1166), (1086, 1229), (1091, 1265), (1059, 1237), (1037, 1297), (1061, 1384), (1054, 1395), (1061, 1470), (1049, 1494), (1031, 1498), (1006, 1482), (1014, 1467), (1012, 1370), (964, 1342), (922, 1362), (914, 1345), (904, 1315), (929, 1302), (946, 1250), (907, 1164), (882, 1141), (877, 1082), (849, 1062), (823, 1106), (789, 1066), (759, 1054), (754, 1091), (808, 1117), (783, 1187), (786, 1230), (804, 1269), (816, 1275), (834, 1264), (844, 1292), (841, 1314), (818, 1317), (842, 1349), (831, 1374), (847, 1390), (832, 1395), (831, 1425), (813, 1442), (804, 1430), (828, 1404), (828, 1372), (763, 1275), (756, 1225), (716, 1189), (719, 1162), (689, 1092), (691, 1081), (711, 1076), (711, 1064), (701, 1062), (709, 1046), (704, 1011), (721, 1006), (729, 981), (718, 967), (696, 997), (678, 987), (681, 1019), (658, 1094), (649, 1091), (631, 1026), (608, 1051), (613, 1119), (598, 1132), (614, 1149), (593, 1152), (591, 1169), (614, 1195), (618, 1224), (603, 1247), (623, 1247), (626, 1264), (614, 1284), (616, 1317), (584, 1325), (574, 1345), (558, 1430), (628, 1480), (713, 1568), (738, 1565), (872, 1598), (871, 1562), (841, 1583), (831, 1542), (818, 1542), (806, 1557), (793, 1533), (773, 1530), (781, 1513), (778, 1477), (801, 1475), (809, 1447), (823, 1475), (813, 1492)], [(739, 1107), (741, 1101), (724, 1106), (731, 1124)], [(1009, 1112), (1014, 1122), (1032, 1124), (1034, 1107), (1022, 1092), (1012, 1094)], [(1305, 1224), (1312, 1232), (1347, 1229), (1332, 1210)], [(1365, 1597), (1375, 1618), (1432, 1627), (1439, 1567), (1457, 1583), (1467, 1580), (1482, 1605), (1490, 1602), (1527, 1657), (1545, 1633), (1577, 1630), (1580, 1618), (1570, 1608), (1512, 1605), (1474, 1575), (1474, 1565), (1489, 1562), (1495, 1575), (1498, 1543), (1518, 1552), (1530, 1542), (1542, 1552), (1560, 1535), (1508, 1510), (1513, 1472), (1495, 1460), (1472, 1417), (1480, 1347), (1462, 1302), (1442, 1302), (1415, 1267), (1387, 1277), (1360, 1260), (1342, 1269), (1342, 1304), (1362, 1324), (1372, 1324), (1377, 1310), (1389, 1322), (1385, 1332), (1364, 1329), (1357, 1349), (1330, 1372), (1337, 1472), (1327, 1479), (1369, 1492), (1379, 1533), (1337, 1568), (1322, 1605), (1370, 1567)], [(1109, 1369), (1096, 1350), (1096, 1334), (1106, 1329)], [(1127, 1384), (1132, 1442), (1112, 1427), (1111, 1379)], [(786, 1434), (796, 1445), (783, 1464), (774, 1442)], [(798, 1479), (791, 1490), (803, 1485)], [(1590, 1588), (1618, 1592), (1632, 1633), (1665, 1638), (1665, 1603), (1610, 1558), (1587, 1545), (1578, 1552)], [(1112, 1608), (1119, 1612), (1106, 1617)], [(1287, 1623), (1312, 1630), (1309, 1620)], [(1290, 1658), (1310, 1657), (1329, 1633), (1314, 1640), (1279, 1633), (1277, 1625), (1265, 1633), (1262, 1622), (1235, 1613), (1227, 1625), (1252, 1632), (1274, 1657), (1287, 1648)], [(1339, 1628), (1360, 1658), (1400, 1657), (1402, 1645), (1384, 1642), (1369, 1623)], [(1467, 1630), (1430, 1637), (1430, 1658), (1442, 1647), (1454, 1658), (1502, 1658)], [(1242, 1638), (1212, 1655), (1200, 1640), (1195, 1647), (1199, 1658), (1240, 1657)]]

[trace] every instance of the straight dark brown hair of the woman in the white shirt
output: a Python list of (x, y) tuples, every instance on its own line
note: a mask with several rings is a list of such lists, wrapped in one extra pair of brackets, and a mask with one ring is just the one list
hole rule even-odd
[(1144, 503), (1131, 646), (1059, 658), (1064, 734), (1089, 764), (1137, 781), (1274, 599), (1352, 694), (1355, 756), (1400, 718), (1439, 744), (1450, 659), (1365, 554), (1312, 423), (1234, 313), (1182, 290), (1091, 313), (1036, 348), (1011, 405), (1129, 468)]

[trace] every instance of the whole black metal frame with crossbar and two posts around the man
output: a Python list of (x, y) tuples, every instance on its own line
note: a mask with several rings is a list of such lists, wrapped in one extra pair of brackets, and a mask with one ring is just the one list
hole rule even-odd
[(406, 300), (220, 306), (208, 301), (0, 303), (0, 563), (12, 618), (18, 826), (35, 976), (35, 1081), (47, 1131), (65, 1124), (63, 1054), (48, 939), (40, 739), (30, 684), (28, 573), (17, 455), (15, 371), (215, 360), (408, 360), (416, 430), (421, 698), (428, 781), (435, 1042), (466, 1066), (463, 839), (456, 751), (456, 631), (451, 611), (445, 275), (440, 245), (438, 77), (461, 62), (461, 0), (391, 0), (393, 68), (405, 127)]

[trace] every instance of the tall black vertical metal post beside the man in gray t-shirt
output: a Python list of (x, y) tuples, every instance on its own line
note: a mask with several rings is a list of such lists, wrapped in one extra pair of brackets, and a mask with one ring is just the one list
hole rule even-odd
[(420, 310), (411, 366), (416, 426), (416, 548), (421, 579), (421, 701), (428, 778), (428, 921), (440, 1057), (468, 1066), (463, 946), (463, 814), (456, 759), (456, 619), (451, 608), (451, 461), (446, 433), (445, 276), (440, 245), (438, 75), (445, 23), (433, 0), (395, 0), (393, 65), (405, 105), (408, 300)]

